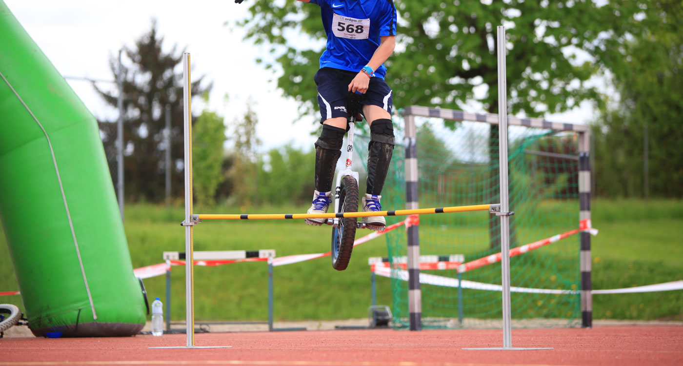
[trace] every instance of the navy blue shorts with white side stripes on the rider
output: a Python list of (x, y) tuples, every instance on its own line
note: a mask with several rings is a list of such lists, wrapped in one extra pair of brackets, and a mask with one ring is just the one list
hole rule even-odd
[[(320, 107), (320, 123), (326, 119), (335, 117), (346, 118), (346, 98), (348, 85), (358, 72), (339, 70), (335, 68), (321, 68), (316, 72), (316, 85), (318, 86), (318, 107)], [(361, 104), (370, 104), (382, 107), (391, 114), (393, 109), (393, 96), (391, 88), (385, 79), (374, 77), (370, 79), (370, 85), (365, 92), (365, 98)]]

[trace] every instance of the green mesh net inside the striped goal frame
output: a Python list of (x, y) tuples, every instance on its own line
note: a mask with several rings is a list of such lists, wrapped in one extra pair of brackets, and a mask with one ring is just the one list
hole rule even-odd
[[(382, 206), (389, 210), (406, 207), (402, 122), (395, 119), (397, 144), (382, 191)], [(497, 125), (441, 117), (415, 117), (415, 123), (420, 208), (499, 203)], [(547, 123), (508, 128), (510, 210), (514, 211), (511, 249), (579, 228), (578, 134), (566, 129), (556, 130)], [(358, 146), (363, 143), (367, 145), (367, 139)], [(366, 150), (358, 151), (365, 162)], [(402, 219), (389, 216), (387, 225)], [(408, 282), (405, 267), (398, 266), (406, 257), (406, 234), (394, 230), (385, 236), (392, 324), (407, 328)], [(576, 233), (561, 240), (555, 237), (552, 244), (533, 251), (520, 248), (524, 253), (510, 259), (514, 327), (581, 326), (579, 237)], [(501, 251), (499, 216), (489, 212), (421, 215), (419, 251), (458, 257), (462, 262), (495, 255)], [(501, 327), (501, 264), (486, 262), (466, 272), (452, 265), (420, 271), (430, 275), (423, 276), (428, 280), (421, 283), (423, 328)]]

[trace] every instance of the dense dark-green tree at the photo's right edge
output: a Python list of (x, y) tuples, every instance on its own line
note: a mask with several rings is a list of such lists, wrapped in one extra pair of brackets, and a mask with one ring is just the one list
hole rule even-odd
[(606, 104), (593, 128), (596, 194), (680, 198), (683, 5), (674, 0), (653, 1), (643, 12), (652, 24), (645, 36), (624, 44), (624, 67), (615, 70), (612, 79), (619, 98)]

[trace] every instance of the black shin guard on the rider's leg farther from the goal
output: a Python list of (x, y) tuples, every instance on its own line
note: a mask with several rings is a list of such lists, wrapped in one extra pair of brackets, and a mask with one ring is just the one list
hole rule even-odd
[(322, 125), (322, 133), (316, 141), (316, 191), (332, 191), (337, 160), (342, 156), (342, 144), (344, 143), (344, 128)]

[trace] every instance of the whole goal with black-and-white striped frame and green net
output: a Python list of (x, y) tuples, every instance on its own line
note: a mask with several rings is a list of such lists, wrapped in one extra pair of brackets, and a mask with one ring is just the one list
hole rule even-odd
[[(404, 145), (395, 146), (382, 206), (467, 205), (498, 196), (499, 161), (492, 159), (498, 156), (498, 144), (490, 141), (490, 126), (498, 124), (498, 115), (410, 106), (402, 116), (405, 126), (397, 132), (404, 135)], [(510, 216), (510, 248), (578, 229), (580, 221), (589, 221), (587, 127), (512, 116), (507, 123), (510, 210), (515, 212)], [(490, 151), (492, 148), (495, 150)], [(365, 157), (361, 149), (359, 154)], [(468, 258), (499, 253), (501, 248), (490, 243), (500, 243), (499, 236), (491, 237), (492, 233), (499, 235), (500, 228), (491, 231), (489, 218), (488, 212), (422, 216), (419, 227), (408, 227), (407, 236), (387, 234), (389, 261), (409, 251), (418, 255), (464, 253)], [(395, 220), (387, 219), (389, 223)], [(512, 326), (591, 326), (587, 231), (512, 257), (510, 264), (513, 286), (573, 290), (566, 294), (513, 293)], [(456, 270), (434, 274), (458, 278)], [(465, 272), (462, 278), (500, 284), (501, 264)], [(419, 285), (397, 278), (391, 279), (391, 294), (393, 324), (398, 328), (501, 327), (501, 292)], [(462, 324), (455, 321), (458, 309), (464, 317)], [(419, 324), (415, 324), (417, 319)]]

